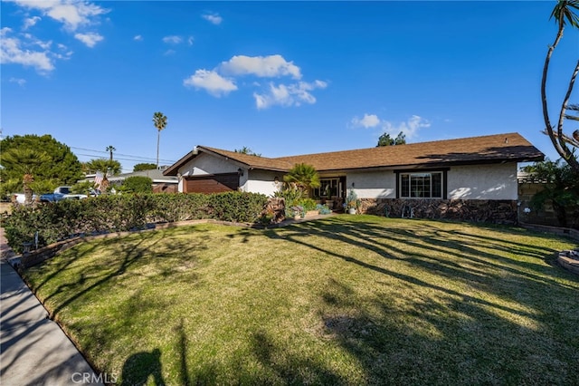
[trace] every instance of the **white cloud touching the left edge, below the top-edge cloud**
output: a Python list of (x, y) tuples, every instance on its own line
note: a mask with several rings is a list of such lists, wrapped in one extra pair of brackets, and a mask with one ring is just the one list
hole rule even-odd
[(47, 51), (33, 51), (32, 47), (15, 37), (8, 37), (12, 30), (8, 27), (0, 30), (0, 63), (17, 63), (31, 66), (38, 72), (54, 70), (54, 64)]

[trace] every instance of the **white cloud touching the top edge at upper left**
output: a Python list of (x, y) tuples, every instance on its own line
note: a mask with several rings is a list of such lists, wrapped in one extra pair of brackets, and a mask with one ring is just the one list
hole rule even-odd
[(64, 24), (69, 31), (76, 31), (80, 25), (93, 24), (95, 16), (109, 12), (99, 5), (70, 0), (15, 0), (15, 3), (41, 11), (44, 15)]

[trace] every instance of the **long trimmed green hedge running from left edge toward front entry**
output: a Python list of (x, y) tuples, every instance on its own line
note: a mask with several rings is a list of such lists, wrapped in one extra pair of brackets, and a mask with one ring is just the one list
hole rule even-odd
[(23, 243), (33, 242), (36, 232), (42, 247), (71, 236), (144, 229), (153, 223), (204, 218), (257, 223), (267, 202), (265, 195), (237, 191), (101, 196), (14, 207), (3, 227), (8, 245), (22, 253)]

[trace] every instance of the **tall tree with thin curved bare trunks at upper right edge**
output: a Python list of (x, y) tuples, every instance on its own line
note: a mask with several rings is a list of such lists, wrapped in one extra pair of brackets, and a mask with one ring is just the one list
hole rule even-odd
[[(545, 65), (543, 67), (543, 77), (541, 79), (541, 101), (543, 105), (543, 119), (546, 126), (546, 130), (544, 132), (551, 139), (551, 142), (553, 143), (557, 153), (563, 159), (565, 159), (569, 166), (574, 169), (575, 173), (579, 173), (579, 160), (577, 160), (577, 156), (574, 154), (574, 150), (570, 149), (568, 146), (571, 145), (572, 147), (577, 148), (577, 140), (575, 140), (574, 137), (566, 135), (563, 131), (563, 123), (565, 119), (570, 119), (570, 116), (566, 114), (565, 111), (567, 110), (571, 92), (573, 92), (577, 72), (579, 72), (579, 61), (577, 61), (575, 64), (574, 72), (572, 73), (571, 79), (569, 80), (567, 91), (565, 93), (565, 99), (563, 100), (561, 109), (559, 111), (556, 127), (551, 124), (549, 119), (549, 111), (546, 100), (546, 79), (549, 70), (549, 63), (551, 62), (551, 55), (563, 37), (565, 24), (568, 23), (571, 27), (575, 28), (579, 27), (579, 16), (574, 14), (574, 11), (576, 10), (579, 10), (579, 0), (557, 0), (557, 4), (555, 5), (555, 8), (549, 17), (549, 19), (555, 19), (555, 23), (557, 24), (558, 28), (557, 34), (555, 35), (555, 42), (549, 46), (546, 53)], [(577, 133), (577, 137), (579, 137), (579, 133)]]

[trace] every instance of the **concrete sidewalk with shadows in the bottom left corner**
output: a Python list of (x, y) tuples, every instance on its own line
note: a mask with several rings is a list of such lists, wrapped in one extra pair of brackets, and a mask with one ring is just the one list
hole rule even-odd
[(102, 385), (7, 258), (14, 253), (0, 228), (0, 384)]

